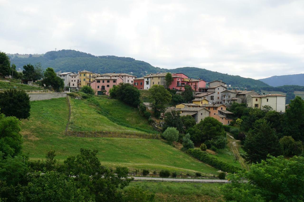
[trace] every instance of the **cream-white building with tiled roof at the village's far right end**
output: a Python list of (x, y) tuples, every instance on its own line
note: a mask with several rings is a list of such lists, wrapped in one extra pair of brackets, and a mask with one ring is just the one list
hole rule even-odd
[(281, 94), (250, 95), (247, 99), (247, 106), (262, 109), (264, 105), (269, 105), (279, 113), (285, 113), (286, 96)]

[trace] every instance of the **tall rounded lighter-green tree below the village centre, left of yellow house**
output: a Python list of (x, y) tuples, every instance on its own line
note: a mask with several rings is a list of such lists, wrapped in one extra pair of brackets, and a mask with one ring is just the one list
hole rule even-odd
[(149, 90), (149, 99), (153, 100), (152, 109), (154, 116), (159, 117), (164, 112), (166, 105), (171, 102), (171, 94), (161, 85), (153, 85)]

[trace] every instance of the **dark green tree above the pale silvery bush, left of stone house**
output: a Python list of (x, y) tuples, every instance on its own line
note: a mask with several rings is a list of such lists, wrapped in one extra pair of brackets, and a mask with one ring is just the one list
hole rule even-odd
[(172, 110), (171, 112), (165, 113), (163, 131), (168, 127), (176, 128), (180, 133), (184, 131), (184, 125), (179, 111)]

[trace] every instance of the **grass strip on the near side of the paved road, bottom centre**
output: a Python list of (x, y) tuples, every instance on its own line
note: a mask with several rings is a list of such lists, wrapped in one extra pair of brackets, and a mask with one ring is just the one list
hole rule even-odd
[(177, 183), (133, 181), (124, 190), (141, 187), (155, 194), (155, 201), (224, 201), (220, 183)]

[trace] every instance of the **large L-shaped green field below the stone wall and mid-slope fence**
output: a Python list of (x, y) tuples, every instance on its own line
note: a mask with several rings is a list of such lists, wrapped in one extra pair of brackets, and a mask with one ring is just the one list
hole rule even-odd
[(212, 172), (217, 170), (172, 146), (151, 139), (80, 138), (64, 135), (68, 119), (65, 98), (31, 102), (31, 116), (22, 120), (24, 152), (30, 159), (42, 159), (46, 151), (56, 150), (60, 161), (79, 153), (80, 148), (98, 149), (105, 166), (138, 169)]

